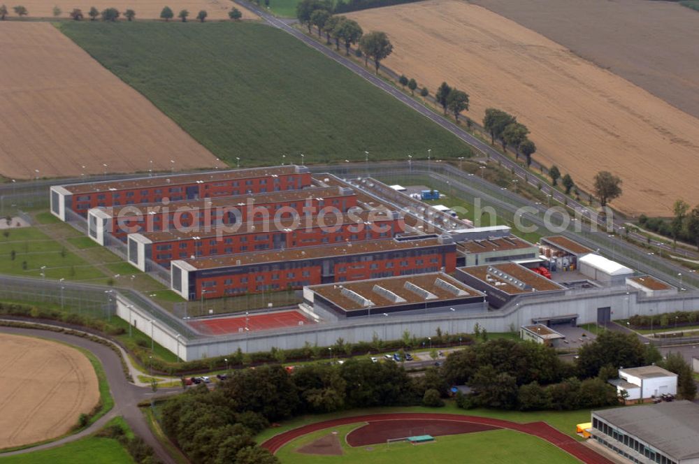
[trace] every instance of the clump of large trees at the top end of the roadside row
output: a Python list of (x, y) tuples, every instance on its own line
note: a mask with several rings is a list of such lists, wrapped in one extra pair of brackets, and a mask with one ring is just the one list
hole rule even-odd
[(352, 45), (359, 45), (359, 51), (365, 57), (364, 66), (368, 66), (368, 59), (372, 59), (378, 73), (381, 61), (393, 52), (393, 45), (386, 33), (373, 31), (364, 34), (358, 22), (345, 16), (333, 15), (332, 10), (332, 2), (329, 0), (302, 0), (296, 5), (296, 17), (308, 27), (308, 34), (312, 34), (312, 28), (316, 27), (319, 37), (325, 33), (327, 43), (333, 38), (337, 50), (340, 50), (342, 42), (345, 55), (349, 56)]

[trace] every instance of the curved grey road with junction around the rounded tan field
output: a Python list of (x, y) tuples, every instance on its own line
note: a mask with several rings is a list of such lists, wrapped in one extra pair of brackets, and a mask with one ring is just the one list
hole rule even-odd
[[(73, 435), (68, 435), (54, 442), (40, 444), (36, 447), (30, 447), (26, 449), (20, 449), (18, 451), (10, 451), (8, 453), (0, 454), (0, 458), (3, 456), (13, 456), (15, 454), (25, 454), (31, 453), (32, 451), (38, 451), (41, 449), (49, 449), (59, 447), (62, 444), (69, 442), (74, 442), (75, 440), (80, 440), (80, 438), (90, 435), (112, 419), (115, 416), (123, 416), (124, 420), (127, 421), (131, 430), (143, 440), (155, 451), (156, 456), (163, 463), (174, 463), (175, 461), (167, 453), (162, 444), (157, 440), (155, 435), (153, 435), (148, 423), (143, 416), (143, 413), (138, 409), (138, 403), (142, 400), (150, 399), (154, 396), (154, 393), (150, 388), (144, 388), (136, 386), (127, 381), (124, 377), (124, 372), (122, 370), (122, 362), (119, 356), (105, 345), (93, 342), (92, 340), (87, 340), (85, 338), (80, 338), (75, 335), (68, 335), (66, 333), (42, 331), (35, 328), (16, 328), (16, 327), (0, 327), (0, 333), (11, 333), (14, 335), (28, 335), (30, 337), (45, 338), (48, 340), (57, 340), (59, 342), (69, 343), (70, 345), (75, 345), (77, 347), (87, 349), (94, 356), (96, 356), (102, 363), (104, 372), (107, 377), (107, 382), (109, 383), (110, 393), (114, 398), (114, 407), (99, 420), (94, 422), (91, 426), (85, 430), (80, 431), (80, 433), (75, 433)], [(158, 395), (177, 393), (181, 389), (161, 389), (158, 391)]]

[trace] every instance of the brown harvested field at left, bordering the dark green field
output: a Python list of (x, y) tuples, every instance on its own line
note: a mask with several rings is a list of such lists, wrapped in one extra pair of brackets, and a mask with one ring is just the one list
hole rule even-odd
[(3, 22), (0, 43), (0, 175), (223, 166), (51, 24)]

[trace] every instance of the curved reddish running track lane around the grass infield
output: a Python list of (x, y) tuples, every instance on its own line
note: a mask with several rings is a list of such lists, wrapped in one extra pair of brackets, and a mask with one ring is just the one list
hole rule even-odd
[(389, 420), (406, 420), (406, 419), (433, 419), (437, 421), (455, 421), (455, 422), (471, 422), (480, 423), (487, 426), (507, 428), (510, 430), (517, 430), (521, 433), (527, 433), (529, 435), (534, 435), (535, 437), (542, 438), (547, 442), (554, 444), (556, 447), (567, 451), (572, 456), (575, 456), (580, 461), (589, 464), (614, 464), (609, 459), (597, 454), (592, 449), (586, 447), (584, 444), (577, 442), (572, 437), (565, 435), (565, 433), (559, 432), (552, 426), (545, 422), (531, 422), (531, 423), (517, 423), (510, 421), (503, 421), (501, 419), (492, 419), (490, 417), (477, 417), (477, 416), (462, 416), (461, 414), (433, 414), (426, 412), (402, 412), (396, 414), (368, 414), (365, 416), (351, 416), (343, 417), (340, 419), (331, 419), (329, 421), (310, 423), (307, 426), (302, 426), (299, 428), (294, 428), (292, 430), (287, 430), (287, 432), (280, 433), (271, 437), (266, 442), (262, 443), (261, 446), (268, 449), (272, 453), (277, 452), (284, 444), (287, 444), (291, 440), (295, 440), (302, 435), (307, 433), (316, 432), (317, 430), (323, 430), (324, 428), (345, 426), (350, 423), (357, 422), (372, 422), (372, 421), (389, 421)]

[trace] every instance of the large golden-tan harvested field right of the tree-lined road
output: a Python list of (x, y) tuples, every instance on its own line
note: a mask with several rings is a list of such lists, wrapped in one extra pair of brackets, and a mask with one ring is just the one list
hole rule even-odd
[[(678, 7), (679, 8), (679, 7)], [(693, 12), (688, 11), (686, 14)], [(570, 50), (480, 6), (431, 0), (349, 15), (365, 31), (386, 31), (386, 66), (434, 92), (446, 80), (485, 108), (517, 115), (532, 131), (535, 157), (591, 190), (600, 170), (624, 180), (612, 204), (631, 214), (670, 215), (699, 203), (699, 119)]]

